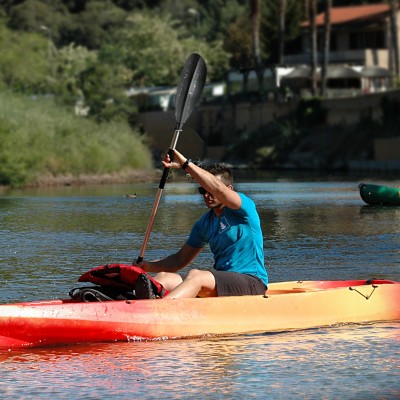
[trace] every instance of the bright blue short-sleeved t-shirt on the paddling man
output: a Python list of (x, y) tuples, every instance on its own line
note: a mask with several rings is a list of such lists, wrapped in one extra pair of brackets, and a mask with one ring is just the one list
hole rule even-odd
[(199, 248), (208, 243), (216, 270), (253, 275), (268, 285), (260, 217), (253, 200), (243, 193), (239, 196), (239, 210), (224, 207), (218, 217), (213, 210), (205, 213), (194, 224), (187, 244)]

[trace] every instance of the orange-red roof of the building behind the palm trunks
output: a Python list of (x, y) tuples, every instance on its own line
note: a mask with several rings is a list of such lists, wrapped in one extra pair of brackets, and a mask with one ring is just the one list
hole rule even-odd
[[(332, 7), (331, 8), (331, 25), (344, 24), (348, 22), (356, 22), (360, 20), (370, 19), (386, 15), (389, 12), (388, 4), (369, 4), (362, 6)], [(316, 23), (318, 26), (324, 25), (325, 13), (317, 15)], [(306, 21), (302, 26), (308, 26)]]

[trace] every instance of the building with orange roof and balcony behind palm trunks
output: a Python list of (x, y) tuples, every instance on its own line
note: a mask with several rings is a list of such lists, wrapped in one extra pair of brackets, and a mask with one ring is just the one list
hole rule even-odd
[[(324, 19), (324, 13), (316, 18), (319, 65), (322, 64)], [(396, 22), (396, 40), (399, 43), (400, 11), (397, 11)], [(284, 58), (285, 63), (294, 68), (286, 77), (286, 84), (297, 88), (307, 88), (309, 84), (306, 71), (311, 60), (309, 29), (309, 22), (304, 22), (301, 51)], [(328, 89), (344, 89), (341, 95), (348, 95), (347, 89), (365, 94), (391, 88), (395, 79), (391, 32), (388, 4), (332, 7)], [(319, 73), (317, 70), (317, 77)], [(336, 90), (336, 94), (340, 93)]]

